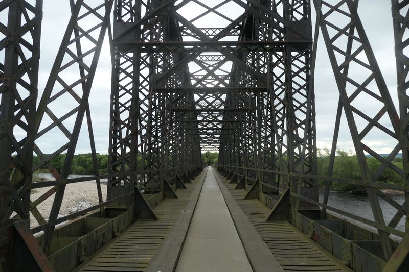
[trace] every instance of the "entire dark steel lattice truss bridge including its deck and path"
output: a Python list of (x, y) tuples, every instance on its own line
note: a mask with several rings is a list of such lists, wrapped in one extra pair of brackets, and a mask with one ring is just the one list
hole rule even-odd
[[(409, 1), (384, 11), (393, 18), (398, 110), (358, 0), (67, 2), (71, 18), (39, 90), (43, 1), (0, 1), (0, 271), (409, 269)], [(328, 55), (338, 102), (324, 176), (317, 52)], [(101, 60), (112, 64), (103, 174), (100, 116), (90, 107), (101, 98)], [(361, 179), (334, 175), (345, 130)], [(388, 154), (374, 135), (392, 146)], [(73, 178), (83, 141), (93, 175)], [(217, 165), (202, 162), (207, 150), (219, 152)], [(53, 180), (33, 182), (44, 168)], [(402, 182), (380, 182), (386, 171)], [(61, 214), (66, 189), (91, 182), (97, 204)], [(331, 205), (333, 183), (365, 188), (372, 219)]]

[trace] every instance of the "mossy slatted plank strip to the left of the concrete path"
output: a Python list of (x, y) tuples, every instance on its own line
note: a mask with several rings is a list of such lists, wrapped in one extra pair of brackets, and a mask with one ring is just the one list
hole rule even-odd
[[(187, 189), (175, 191), (178, 199), (167, 198), (155, 206), (153, 211), (159, 220), (135, 221), (76, 271), (145, 271), (186, 206), (189, 196), (197, 186), (202, 186), (205, 176), (206, 171), (202, 171), (191, 184), (185, 184)], [(200, 191), (200, 188), (198, 190)]]

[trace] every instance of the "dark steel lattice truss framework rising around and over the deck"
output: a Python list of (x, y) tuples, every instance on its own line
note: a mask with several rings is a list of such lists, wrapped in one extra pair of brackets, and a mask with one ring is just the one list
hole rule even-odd
[[(300, 222), (309, 216), (314, 220), (308, 221), (310, 231), (337, 213), (373, 228), (375, 234), (365, 232), (364, 238), (375, 240), (370, 242), (376, 246), (369, 248), (380, 249), (373, 255), (382, 260), (382, 267), (397, 250), (391, 235), (405, 242), (409, 226), (405, 51), (409, 4), (391, 2), (399, 114), (356, 0), (70, 0), (71, 17), (41, 90), (43, 1), (0, 2), (0, 230), (13, 233), (7, 237), (17, 241), (23, 237), (25, 252), (37, 257), (44, 253), (48, 258), (35, 262), (43, 261), (45, 267), (48, 259), (55, 261), (54, 251), (66, 237), (62, 235), (82, 237), (64, 241), (73, 240), (70, 246), (75, 248), (76, 243), (77, 251), (83, 249), (86, 235), (65, 233), (69, 227), (60, 224), (76, 218), (67, 226), (81, 225), (81, 231), (89, 225), (96, 231), (112, 224), (111, 233), (117, 235), (149, 213), (149, 206), (169, 197), (168, 183), (183, 187), (197, 176), (203, 168), (202, 151), (218, 151), (219, 171), (239, 187), (258, 191), (266, 204), (275, 203), (276, 212), (284, 206), (280, 220), (301, 228)], [(385, 16), (390, 16), (389, 9)], [(110, 54), (101, 53), (104, 40), (109, 41)], [(322, 80), (315, 73), (319, 46), (329, 57), (327, 70), (334, 75), (338, 98), (326, 174), (319, 173), (317, 165), (315, 110), (320, 109), (316, 109), (314, 81)], [(100, 98), (96, 74), (102, 59), (112, 64), (107, 83), (111, 84), (109, 159), (104, 174), (98, 168), (95, 137), (100, 119), (95, 119), (92, 109), (92, 102)], [(335, 175), (336, 147), (343, 131), (351, 135), (360, 178)], [(81, 135), (92, 157), (92, 175), (72, 177)], [(387, 153), (379, 150), (374, 135), (391, 143)], [(400, 153), (402, 163), (396, 164), (393, 160)], [(33, 154), (38, 157), (34, 165)], [(367, 156), (376, 164), (368, 165)], [(33, 183), (33, 172), (40, 169), (48, 169), (53, 180)], [(401, 181), (379, 182), (388, 171)], [(95, 204), (61, 214), (66, 189), (88, 181), (95, 182)], [(325, 183), (321, 199), (319, 181)], [(371, 217), (331, 206), (332, 183), (365, 188)], [(44, 191), (32, 199), (32, 189)], [(383, 189), (402, 192), (404, 201), (395, 201)], [(44, 210), (46, 202), (51, 204)], [(393, 209), (391, 220), (385, 219), (384, 202)], [(88, 212), (97, 219), (87, 217)], [(275, 216), (272, 212), (271, 218)], [(108, 218), (116, 219), (109, 223)], [(316, 239), (313, 233), (306, 234)], [(368, 250), (370, 242), (361, 241), (362, 236), (337, 235), (349, 242), (360, 240), (360, 246), (351, 248)], [(2, 250), (11, 243), (4, 237)], [(83, 250), (75, 263), (90, 254)], [(8, 262), (5, 256), (0, 257), (2, 268), (20, 263)]]

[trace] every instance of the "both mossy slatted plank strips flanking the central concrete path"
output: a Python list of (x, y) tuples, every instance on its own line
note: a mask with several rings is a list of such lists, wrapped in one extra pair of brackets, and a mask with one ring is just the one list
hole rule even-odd
[[(82, 264), (77, 271), (146, 270), (202, 175), (206, 175), (206, 171), (203, 171), (192, 184), (186, 184), (188, 189), (176, 191), (179, 199), (165, 199), (154, 207), (158, 221), (142, 219), (136, 221), (124, 233)], [(289, 222), (266, 222), (269, 209), (265, 205), (256, 199), (244, 200), (246, 194), (244, 189), (235, 190), (235, 184), (229, 184), (229, 181), (216, 171), (215, 175), (229, 189), (228, 191), (251, 221), (262, 239), (260, 242), (264, 241), (285, 271), (351, 271)]]

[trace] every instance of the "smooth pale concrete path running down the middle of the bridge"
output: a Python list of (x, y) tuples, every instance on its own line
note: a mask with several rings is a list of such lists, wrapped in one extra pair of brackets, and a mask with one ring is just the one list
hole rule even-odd
[(208, 167), (176, 271), (252, 271), (212, 167)]

